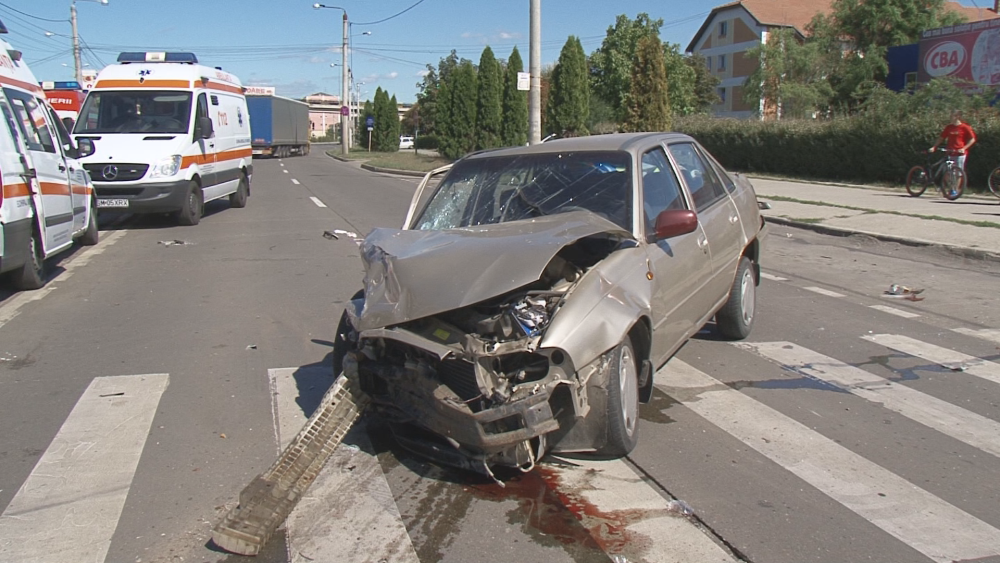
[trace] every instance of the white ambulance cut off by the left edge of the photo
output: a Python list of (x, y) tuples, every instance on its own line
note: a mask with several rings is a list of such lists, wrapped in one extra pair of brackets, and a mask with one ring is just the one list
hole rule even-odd
[(73, 144), (21, 53), (0, 37), (0, 273), (15, 287), (41, 287), (45, 259), (74, 239), (97, 244), (93, 188), (76, 160), (91, 151), (89, 141)]

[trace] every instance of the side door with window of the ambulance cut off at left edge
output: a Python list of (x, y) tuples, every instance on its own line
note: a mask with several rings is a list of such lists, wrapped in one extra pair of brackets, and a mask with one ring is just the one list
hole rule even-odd
[(59, 150), (59, 140), (49, 123), (45, 108), (37, 98), (5, 88), (7, 100), (24, 140), (25, 152), (33, 166), (29, 182), (39, 213), (45, 254), (49, 255), (73, 242), (73, 198), (69, 166)]

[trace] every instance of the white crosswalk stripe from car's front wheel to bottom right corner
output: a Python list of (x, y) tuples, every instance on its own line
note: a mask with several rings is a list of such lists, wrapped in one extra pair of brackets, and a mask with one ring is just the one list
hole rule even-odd
[(761, 455), (941, 563), (1000, 555), (1000, 530), (678, 360), (656, 386)]

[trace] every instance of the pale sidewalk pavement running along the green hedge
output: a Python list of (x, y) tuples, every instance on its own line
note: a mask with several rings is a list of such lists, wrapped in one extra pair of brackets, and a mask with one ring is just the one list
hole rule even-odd
[(772, 223), (939, 246), (970, 258), (1000, 261), (1000, 199), (989, 193), (948, 201), (933, 187), (911, 197), (902, 187), (876, 189), (754, 176), (750, 181), (757, 199), (771, 205), (761, 213)]

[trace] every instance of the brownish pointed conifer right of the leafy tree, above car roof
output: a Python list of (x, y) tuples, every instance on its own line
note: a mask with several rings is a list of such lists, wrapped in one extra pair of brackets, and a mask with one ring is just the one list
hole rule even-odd
[(639, 40), (632, 65), (632, 89), (626, 107), (625, 131), (669, 131), (670, 100), (667, 94), (667, 71), (663, 45), (655, 35)]

